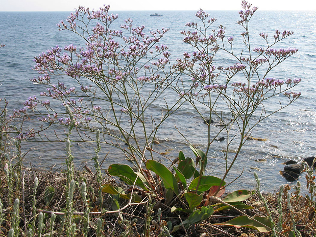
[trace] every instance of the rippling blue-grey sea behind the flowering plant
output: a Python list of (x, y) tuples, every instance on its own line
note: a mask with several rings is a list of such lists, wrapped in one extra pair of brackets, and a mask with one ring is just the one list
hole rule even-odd
[[(113, 29), (120, 29), (124, 20), (131, 18), (133, 26), (145, 26), (145, 32), (150, 30), (169, 28), (159, 44), (169, 47), (170, 60), (174, 62), (180, 58), (183, 52), (192, 53), (194, 49), (185, 44), (184, 36), (179, 32), (190, 30), (185, 26), (186, 22), (198, 21), (192, 11), (159, 11), (161, 17), (151, 17), (153, 11), (112, 11), (119, 17), (112, 23)], [(213, 28), (219, 25), (226, 27), (225, 36), (233, 36), (238, 51), (238, 44), (242, 45), (240, 33), (243, 28), (236, 23), (239, 20), (238, 11), (207, 11), (211, 17), (217, 19)], [(76, 35), (68, 31), (58, 31), (57, 23), (66, 20), (69, 12), (0, 12), (0, 98), (9, 102), (8, 113), (14, 109), (23, 107), (23, 102), (29, 97), (45, 91), (45, 86), (34, 84), (30, 81), (37, 72), (32, 70), (33, 58), (41, 52), (52, 47), (65, 46), (73, 43), (84, 47), (84, 43)], [(260, 11), (253, 15), (250, 23), (252, 35), (251, 47), (264, 47), (264, 40), (259, 33), (267, 33), (268, 39), (273, 40), (275, 30), (279, 29), (294, 31), (290, 37), (282, 40), (276, 48), (291, 47), (299, 51), (285, 60), (282, 64), (270, 71), (268, 77), (277, 79), (301, 78), (301, 83), (295, 87), (295, 91), (301, 92), (301, 96), (290, 106), (276, 112), (258, 124), (252, 131), (251, 136), (262, 140), (248, 140), (244, 144), (234, 167), (230, 171), (226, 183), (234, 181), (227, 187), (228, 191), (236, 189), (253, 189), (256, 186), (254, 172), (258, 173), (261, 180), (261, 190), (274, 192), (280, 185), (296, 185), (288, 182), (279, 171), (283, 170), (284, 162), (295, 160), (301, 162), (305, 157), (316, 154), (316, 12), (315, 11)], [(219, 54), (216, 58), (216, 66), (232, 65), (234, 61)], [(71, 78), (61, 77), (69, 87), (76, 86)], [(279, 100), (275, 97), (271, 100), (267, 110), (272, 111), (279, 106)], [(46, 98), (43, 98), (43, 100)], [(166, 100), (175, 98), (168, 97)], [(3, 101), (1, 105), (3, 106)], [(154, 112), (161, 113), (162, 105), (154, 108)], [(220, 102), (217, 111), (222, 112), (223, 118), (228, 119), (228, 110), (225, 103)], [(207, 111), (202, 111), (207, 115)], [(226, 118), (226, 117), (227, 118)], [(25, 123), (32, 126), (32, 122), (38, 126), (36, 118)], [(218, 122), (218, 121), (215, 121)], [(34, 125), (34, 126), (35, 126)], [(176, 126), (176, 128), (175, 128)], [(218, 127), (212, 127), (212, 135), (216, 134)], [(48, 137), (54, 136), (54, 131), (47, 129)], [(183, 151), (185, 156), (194, 157), (188, 142), (197, 148), (204, 150), (207, 141), (207, 128), (203, 119), (189, 105), (185, 105), (171, 116), (157, 134), (160, 143), (155, 149), (173, 160)], [(238, 135), (238, 128), (232, 127), (232, 134)], [(226, 140), (225, 140), (226, 141)], [(215, 141), (208, 157), (206, 173), (222, 177), (225, 172), (225, 159), (223, 152), (227, 142)], [(72, 154), (75, 156), (74, 163), (77, 169), (82, 169), (85, 164), (93, 167), (91, 159), (94, 156), (94, 143), (72, 143)], [(66, 157), (65, 143), (53, 142), (23, 142), (23, 151), (28, 153), (24, 157), (24, 165), (36, 169), (64, 169)], [(228, 164), (236, 152), (236, 146), (232, 146), (228, 153)], [(105, 158), (105, 159), (104, 159)], [(156, 155), (156, 159), (170, 165), (170, 161), (163, 155)], [(102, 161), (102, 162), (101, 162)], [(120, 155), (113, 147), (102, 146), (100, 162), (105, 170), (112, 163), (129, 164), (124, 155)], [(299, 177), (302, 189), (306, 186), (305, 173)], [(305, 189), (306, 191), (306, 189)]]

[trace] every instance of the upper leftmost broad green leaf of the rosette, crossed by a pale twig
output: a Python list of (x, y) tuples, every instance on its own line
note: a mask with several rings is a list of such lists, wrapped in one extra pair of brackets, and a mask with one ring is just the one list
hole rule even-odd
[(144, 178), (143, 174), (139, 173), (137, 177), (137, 173), (135, 173), (134, 170), (128, 165), (112, 164), (109, 166), (107, 171), (109, 174), (119, 177), (129, 185), (133, 185), (136, 180), (135, 184), (137, 186), (148, 191), (144, 185), (146, 183), (146, 179)]

